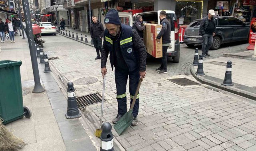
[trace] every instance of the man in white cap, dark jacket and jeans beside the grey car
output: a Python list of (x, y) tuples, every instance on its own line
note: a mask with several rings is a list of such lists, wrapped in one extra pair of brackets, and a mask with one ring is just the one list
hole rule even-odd
[(210, 47), (212, 46), (212, 40), (216, 33), (216, 22), (213, 18), (215, 15), (214, 10), (209, 10), (208, 16), (204, 17), (200, 23), (199, 35), (202, 36), (202, 56), (210, 56), (208, 53)]

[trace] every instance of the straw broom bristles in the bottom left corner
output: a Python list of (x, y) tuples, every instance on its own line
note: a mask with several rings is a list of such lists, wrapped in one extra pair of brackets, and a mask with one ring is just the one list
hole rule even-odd
[(16, 151), (26, 144), (9, 132), (0, 120), (0, 151)]

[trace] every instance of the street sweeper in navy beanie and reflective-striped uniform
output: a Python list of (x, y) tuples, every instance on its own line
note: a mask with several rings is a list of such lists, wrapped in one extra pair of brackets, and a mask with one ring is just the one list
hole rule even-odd
[[(146, 47), (141, 41), (139, 34), (129, 25), (121, 24), (117, 10), (111, 9), (107, 12), (104, 23), (103, 49), (101, 54), (101, 73), (107, 74), (107, 57), (111, 68), (115, 66), (115, 84), (117, 89), (118, 113), (113, 119), (115, 124), (127, 112), (126, 84), (129, 77), (129, 92), (131, 103), (135, 95), (139, 78), (146, 76)], [(132, 126), (138, 124), (139, 94), (133, 108)]]

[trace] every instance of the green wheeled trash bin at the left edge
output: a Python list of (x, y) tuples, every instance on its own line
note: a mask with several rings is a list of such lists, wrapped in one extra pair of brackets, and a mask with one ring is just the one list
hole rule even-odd
[(31, 117), (30, 109), (23, 106), (21, 64), (21, 61), (0, 61), (0, 120), (3, 124), (8, 124), (23, 116)]

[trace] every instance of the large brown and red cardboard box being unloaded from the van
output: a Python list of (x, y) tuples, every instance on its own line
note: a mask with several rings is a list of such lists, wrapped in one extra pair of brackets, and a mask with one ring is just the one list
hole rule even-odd
[(162, 58), (162, 38), (160, 43), (157, 43), (156, 37), (160, 33), (162, 25), (157, 24), (147, 24), (145, 30), (143, 31), (144, 44), (147, 48), (147, 53), (155, 58)]

